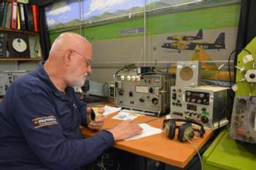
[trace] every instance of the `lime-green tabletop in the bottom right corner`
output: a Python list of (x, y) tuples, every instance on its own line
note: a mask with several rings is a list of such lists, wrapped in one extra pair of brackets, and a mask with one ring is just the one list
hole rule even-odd
[(229, 133), (222, 131), (203, 153), (203, 169), (255, 169), (256, 145), (231, 139)]

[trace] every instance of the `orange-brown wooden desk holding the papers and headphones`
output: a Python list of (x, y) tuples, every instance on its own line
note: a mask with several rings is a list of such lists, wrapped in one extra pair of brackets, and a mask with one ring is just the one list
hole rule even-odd
[[(119, 120), (112, 119), (116, 114), (117, 113), (113, 113), (107, 116), (103, 127), (104, 129), (112, 128), (120, 123)], [(134, 122), (143, 123), (144, 121), (149, 121), (154, 118), (155, 117), (150, 116), (139, 116), (134, 119)], [(150, 121), (147, 124), (162, 129), (163, 118)], [(91, 137), (96, 133), (97, 131), (82, 127), (82, 135), (84, 137)], [(199, 150), (212, 136), (212, 134), (212, 131), (206, 130), (206, 134), (204, 134), (203, 139), (195, 137), (192, 142)], [(161, 161), (172, 166), (178, 166), (180, 168), (184, 168), (196, 154), (195, 149), (189, 142), (178, 142), (177, 137), (174, 140), (168, 139), (164, 133), (154, 134), (150, 137), (144, 137), (141, 139), (118, 141), (115, 143), (114, 147), (120, 150), (126, 150), (136, 155), (151, 158), (155, 161)]]

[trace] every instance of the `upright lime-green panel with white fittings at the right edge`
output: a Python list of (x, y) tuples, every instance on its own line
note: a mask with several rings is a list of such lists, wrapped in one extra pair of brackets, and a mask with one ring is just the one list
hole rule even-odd
[[(255, 39), (252, 39), (252, 41), (247, 44), (245, 49), (248, 49), (249, 52), (252, 53), (252, 56), (254, 57), (256, 61), (256, 37)], [(238, 54), (238, 60), (237, 60), (237, 66), (238, 68), (245, 68), (246, 70), (252, 69), (252, 61), (247, 62), (244, 64), (243, 57), (248, 55), (249, 53), (245, 50), (242, 50), (240, 54)], [(236, 71), (236, 83), (240, 81), (242, 78), (244, 78), (244, 73), (240, 73), (239, 70)], [(236, 91), (236, 96), (248, 96), (249, 93), (252, 93), (252, 95), (256, 95), (256, 86), (254, 85), (252, 88), (250, 88), (250, 84), (247, 81), (237, 83), (238, 90)]]

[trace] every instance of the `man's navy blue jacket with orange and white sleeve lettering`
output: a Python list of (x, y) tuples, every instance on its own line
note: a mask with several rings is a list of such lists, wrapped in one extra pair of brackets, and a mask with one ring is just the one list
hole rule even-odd
[(82, 139), (86, 104), (65, 93), (42, 63), (12, 83), (0, 104), (0, 169), (79, 169), (114, 145), (106, 131)]

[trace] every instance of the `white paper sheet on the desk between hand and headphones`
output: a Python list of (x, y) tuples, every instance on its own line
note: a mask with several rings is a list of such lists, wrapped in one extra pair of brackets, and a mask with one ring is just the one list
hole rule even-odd
[(143, 129), (142, 134), (138, 134), (134, 137), (129, 137), (128, 139), (125, 139), (125, 141), (148, 137), (152, 134), (160, 134), (163, 131), (162, 129), (152, 127), (149, 124), (139, 124), (139, 126), (141, 126), (141, 128)]

